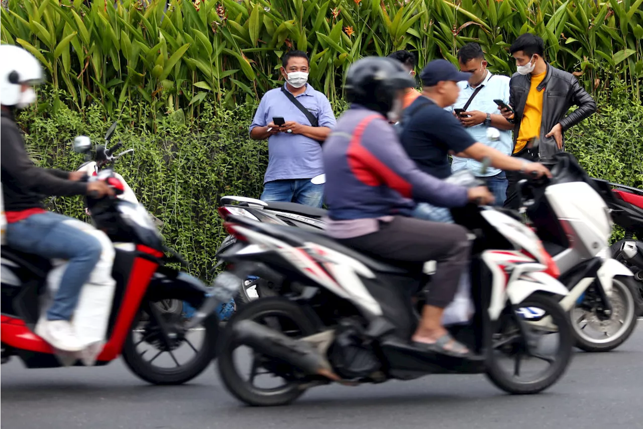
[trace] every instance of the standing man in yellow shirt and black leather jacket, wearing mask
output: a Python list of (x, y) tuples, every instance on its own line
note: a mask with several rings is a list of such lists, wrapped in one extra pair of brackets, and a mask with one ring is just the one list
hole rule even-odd
[[(516, 59), (518, 72), (509, 82), (511, 110), (501, 111), (514, 123), (513, 156), (552, 166), (554, 155), (565, 150), (563, 131), (592, 115), (596, 103), (574, 75), (545, 61), (545, 43), (540, 37), (525, 33), (509, 50)], [(565, 116), (571, 106), (578, 109)], [(534, 139), (539, 140), (535, 147), (529, 143)], [(518, 209), (516, 184), (521, 176), (507, 171), (507, 178), (505, 207)]]

